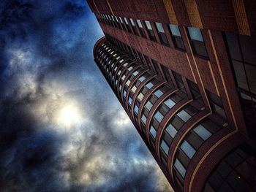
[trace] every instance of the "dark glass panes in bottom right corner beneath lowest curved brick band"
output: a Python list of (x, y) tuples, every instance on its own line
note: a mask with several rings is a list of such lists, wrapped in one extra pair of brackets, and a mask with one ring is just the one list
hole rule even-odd
[(206, 181), (206, 191), (255, 191), (255, 152), (242, 144), (228, 153)]

